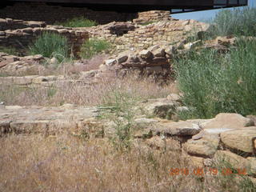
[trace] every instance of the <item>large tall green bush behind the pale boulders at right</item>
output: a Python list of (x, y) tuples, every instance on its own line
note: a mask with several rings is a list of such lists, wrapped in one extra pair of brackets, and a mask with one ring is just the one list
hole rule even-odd
[(230, 54), (216, 50), (190, 52), (175, 63), (183, 102), (190, 118), (212, 118), (221, 112), (256, 112), (256, 41), (239, 40)]

